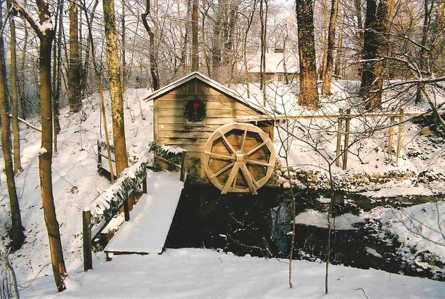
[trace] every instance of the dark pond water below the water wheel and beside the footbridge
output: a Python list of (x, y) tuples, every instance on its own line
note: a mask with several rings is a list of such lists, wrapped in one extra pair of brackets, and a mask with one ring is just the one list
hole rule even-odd
[[(305, 224), (296, 225), (296, 259), (325, 260), (327, 229), (323, 227), (326, 223), (323, 213), (328, 204), (323, 195), (326, 194), (296, 191), (297, 214), (313, 211)], [(375, 200), (353, 193), (336, 193), (332, 211), (336, 221), (343, 216), (361, 216), (355, 217), (359, 219), (356, 223), (349, 222), (332, 231), (332, 264), (431, 277), (428, 270), (404, 266), (396, 254), (399, 244), (383, 234), (378, 220), (364, 219), (364, 213), (374, 213), (378, 207), (408, 207), (430, 200), (428, 197)], [(205, 186), (186, 187), (165, 248), (213, 248), (241, 256), (289, 257), (292, 209), (289, 190), (263, 188), (254, 196), (220, 195), (216, 188)]]

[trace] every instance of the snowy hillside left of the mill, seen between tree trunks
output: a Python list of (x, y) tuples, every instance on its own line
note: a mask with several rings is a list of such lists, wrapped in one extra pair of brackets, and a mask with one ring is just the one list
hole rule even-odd
[[(127, 89), (124, 95), (125, 134), (127, 149), (143, 156), (147, 145), (153, 140), (152, 103), (143, 102), (149, 94), (146, 89)], [(111, 130), (110, 97), (105, 93), (108, 128)], [(82, 211), (95, 200), (99, 193), (109, 188), (108, 179), (97, 173), (97, 140), (99, 135), (99, 96), (83, 101), (83, 112), (87, 116), (80, 120), (80, 113), (70, 115), (68, 107), (60, 111), (61, 131), (58, 135), (58, 154), (52, 163), (54, 203), (60, 224), (61, 241), (65, 264), (69, 273), (82, 264)], [(39, 127), (37, 119), (27, 120)], [(50, 275), (51, 258), (47, 229), (44, 225), (38, 155), (41, 148), (40, 132), (20, 124), (22, 141), (22, 167), (15, 177), (19, 196), (22, 223), (26, 243), (22, 249), (10, 254), (10, 260), (22, 284), (36, 275)], [(110, 136), (111, 131), (109, 132)], [(104, 131), (102, 129), (102, 136)], [(1, 153), (0, 153), (1, 156)], [(0, 240), (6, 236), (5, 226), (10, 225), (10, 211), (6, 180), (0, 163)], [(76, 187), (76, 188), (74, 188)], [(74, 190), (78, 192), (74, 192)], [(0, 241), (3, 243), (3, 241)]]

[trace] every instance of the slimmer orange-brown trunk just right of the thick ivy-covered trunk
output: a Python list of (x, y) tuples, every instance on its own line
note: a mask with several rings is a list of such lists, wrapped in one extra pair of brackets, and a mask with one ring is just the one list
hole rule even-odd
[(329, 31), (327, 33), (327, 54), (326, 68), (323, 76), (323, 95), (331, 94), (332, 70), (334, 68), (334, 47), (335, 47), (335, 26), (337, 24), (337, 13), (339, 11), (339, 1), (332, 0), (331, 16), (329, 20)]

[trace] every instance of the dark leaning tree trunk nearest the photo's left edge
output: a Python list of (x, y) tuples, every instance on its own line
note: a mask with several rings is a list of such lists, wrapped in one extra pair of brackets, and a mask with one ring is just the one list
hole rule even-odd
[[(3, 13), (0, 7), (0, 27)], [(20, 216), (19, 200), (15, 189), (13, 170), (13, 157), (10, 144), (10, 122), (8, 117), (8, 104), (6, 103), (6, 68), (4, 63), (5, 52), (3, 35), (0, 35), (0, 120), (1, 120), (1, 148), (3, 149), (3, 161), (5, 163), (6, 184), (11, 211), (11, 227), (9, 235), (11, 239), (11, 250), (15, 251), (22, 247), (25, 236), (23, 234), (22, 218)]]

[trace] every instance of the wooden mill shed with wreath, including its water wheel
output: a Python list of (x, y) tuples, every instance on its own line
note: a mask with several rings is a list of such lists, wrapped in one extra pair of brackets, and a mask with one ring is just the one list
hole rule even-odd
[(185, 149), (197, 179), (211, 181), (223, 193), (256, 193), (270, 177), (275, 166), (273, 124), (240, 121), (264, 115), (260, 105), (199, 72), (145, 100), (153, 101), (155, 142)]

